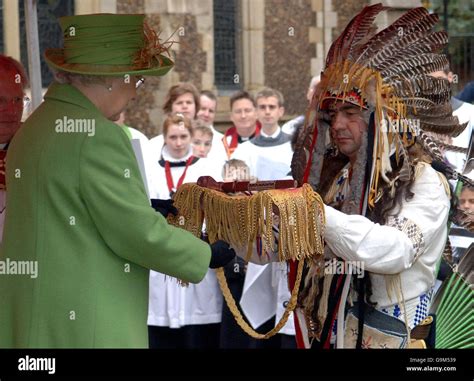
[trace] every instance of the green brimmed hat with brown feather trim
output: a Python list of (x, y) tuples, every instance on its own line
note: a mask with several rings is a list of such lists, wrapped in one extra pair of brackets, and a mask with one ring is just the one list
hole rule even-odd
[(171, 42), (159, 35), (141, 14), (92, 14), (59, 20), (64, 47), (47, 49), (45, 59), (56, 70), (84, 75), (165, 75), (173, 61)]

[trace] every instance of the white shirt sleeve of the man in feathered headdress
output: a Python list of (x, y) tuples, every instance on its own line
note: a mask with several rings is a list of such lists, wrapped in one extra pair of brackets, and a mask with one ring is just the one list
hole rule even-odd
[(400, 213), (387, 225), (325, 206), (327, 245), (337, 256), (363, 262), (373, 273), (397, 274), (410, 268), (430, 246), (439, 247), (433, 242), (446, 240), (450, 206), (445, 182), (431, 167), (425, 166), (412, 192), (414, 197), (402, 202)]

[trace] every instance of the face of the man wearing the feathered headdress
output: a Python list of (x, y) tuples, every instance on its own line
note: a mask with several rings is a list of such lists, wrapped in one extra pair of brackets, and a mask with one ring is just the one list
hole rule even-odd
[(336, 102), (329, 111), (331, 137), (339, 151), (351, 161), (356, 159), (362, 135), (367, 130), (362, 112), (360, 107), (343, 102)]

